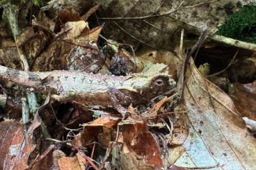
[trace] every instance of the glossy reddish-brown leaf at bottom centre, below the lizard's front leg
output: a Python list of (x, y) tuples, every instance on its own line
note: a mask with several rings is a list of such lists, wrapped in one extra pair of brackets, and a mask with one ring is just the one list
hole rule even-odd
[[(146, 122), (143, 122), (142, 124), (122, 124), (122, 139), (127, 146), (127, 151), (129, 151), (129, 154), (127, 155), (129, 157), (129, 159), (127, 159), (127, 166), (135, 166), (135, 168), (140, 169), (141, 167), (137, 167), (138, 164), (140, 164), (139, 162), (143, 164), (142, 162), (145, 161), (148, 166), (152, 166), (156, 169), (162, 167), (163, 162), (161, 160), (159, 146), (156, 139), (148, 131)], [(123, 148), (122, 151), (125, 152), (125, 148)], [(138, 162), (135, 162), (134, 164), (129, 162), (131, 160), (136, 160), (136, 157), (138, 158)], [(124, 158), (119, 158), (118, 160), (125, 161), (122, 159)], [(122, 166), (125, 166), (124, 162), (122, 162), (122, 164)]]

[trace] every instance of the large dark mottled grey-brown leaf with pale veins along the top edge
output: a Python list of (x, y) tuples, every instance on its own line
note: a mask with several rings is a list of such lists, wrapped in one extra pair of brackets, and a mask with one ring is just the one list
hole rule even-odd
[(241, 6), (239, 0), (97, 2), (102, 5), (100, 19), (106, 22), (111, 39), (161, 49), (175, 49), (180, 28), (200, 33), (201, 26), (208, 26), (215, 33), (227, 15)]

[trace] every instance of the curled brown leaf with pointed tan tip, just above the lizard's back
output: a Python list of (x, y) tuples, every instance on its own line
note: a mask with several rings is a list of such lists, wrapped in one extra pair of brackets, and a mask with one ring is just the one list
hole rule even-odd
[[(104, 64), (105, 57), (97, 49), (102, 26), (81, 33), (72, 40), (56, 40), (33, 61), (33, 71), (70, 69), (96, 73)], [(65, 34), (63, 35), (65, 37)], [(90, 44), (94, 42), (94, 44)]]

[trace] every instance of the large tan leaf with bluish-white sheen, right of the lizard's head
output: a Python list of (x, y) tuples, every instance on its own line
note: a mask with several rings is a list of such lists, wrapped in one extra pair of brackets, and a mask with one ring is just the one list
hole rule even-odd
[(221, 169), (255, 167), (255, 139), (247, 135), (232, 100), (199, 73), (193, 60), (186, 75), (184, 99), (191, 127), (184, 142), (186, 152), (175, 164)]

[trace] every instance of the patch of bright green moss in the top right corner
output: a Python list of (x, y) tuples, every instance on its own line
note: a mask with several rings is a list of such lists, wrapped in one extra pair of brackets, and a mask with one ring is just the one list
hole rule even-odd
[(256, 6), (243, 6), (217, 32), (218, 35), (232, 37), (246, 42), (256, 42)]

